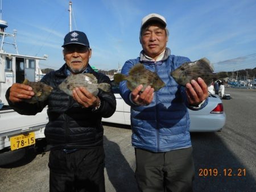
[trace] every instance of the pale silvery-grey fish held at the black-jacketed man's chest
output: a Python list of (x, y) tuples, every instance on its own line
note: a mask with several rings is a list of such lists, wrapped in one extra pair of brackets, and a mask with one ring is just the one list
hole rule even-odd
[(72, 96), (72, 90), (75, 87), (85, 87), (93, 95), (98, 94), (98, 89), (105, 92), (110, 91), (110, 85), (107, 83), (98, 84), (97, 78), (92, 73), (80, 73), (65, 78), (59, 85), (60, 90), (63, 90), (66, 94)]

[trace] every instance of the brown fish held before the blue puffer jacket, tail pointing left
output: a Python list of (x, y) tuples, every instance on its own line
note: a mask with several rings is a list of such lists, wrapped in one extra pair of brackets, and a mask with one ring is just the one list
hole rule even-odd
[(141, 63), (134, 65), (130, 69), (128, 76), (120, 73), (114, 74), (115, 82), (121, 82), (123, 80), (127, 80), (127, 87), (131, 91), (141, 84), (143, 85), (141, 91), (144, 91), (148, 85), (154, 88), (155, 91), (158, 91), (165, 85), (157, 73), (144, 68)]

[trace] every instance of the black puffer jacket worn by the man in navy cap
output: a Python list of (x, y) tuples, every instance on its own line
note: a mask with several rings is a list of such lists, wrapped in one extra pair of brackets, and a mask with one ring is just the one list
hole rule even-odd
[[(42, 78), (42, 82), (53, 87), (52, 93), (44, 103), (31, 105), (24, 102), (15, 104), (10, 102), (9, 104), (20, 114), (26, 115), (34, 115), (48, 105), (49, 122), (44, 134), (51, 148), (92, 148), (102, 145), (101, 118), (108, 118), (113, 115), (116, 107), (115, 96), (112, 91), (106, 93), (99, 90), (100, 108), (96, 111), (92, 111), (92, 108), (83, 108), (72, 97), (58, 88), (59, 84), (67, 77), (66, 68), (67, 65), (63, 65), (59, 70), (50, 72)], [(89, 65), (88, 73), (93, 73), (98, 83), (106, 82), (111, 85), (109, 77), (94, 72)], [(8, 95), (6, 94), (6, 97)]]

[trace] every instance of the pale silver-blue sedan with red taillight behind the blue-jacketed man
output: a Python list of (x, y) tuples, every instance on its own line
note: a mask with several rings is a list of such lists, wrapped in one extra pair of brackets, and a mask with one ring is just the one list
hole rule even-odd
[[(110, 118), (102, 118), (102, 122), (118, 123), (130, 125), (130, 106), (123, 101), (119, 94), (119, 86), (112, 83), (117, 109)], [(213, 132), (224, 127), (226, 115), (222, 101), (215, 94), (209, 94), (208, 105), (198, 111), (189, 110), (191, 119), (190, 132)]]

